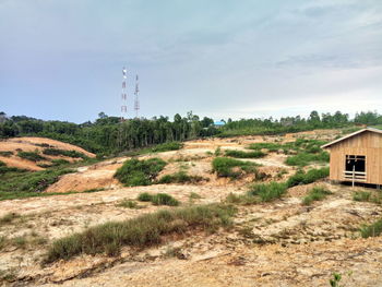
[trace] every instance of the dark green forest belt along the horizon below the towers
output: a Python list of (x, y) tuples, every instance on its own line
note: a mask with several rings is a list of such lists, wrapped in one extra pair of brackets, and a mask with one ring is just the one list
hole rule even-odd
[(382, 116), (377, 111), (357, 112), (354, 119), (348, 113), (319, 113), (313, 110), (302, 118), (285, 117), (280, 119), (253, 118), (228, 119), (225, 125), (216, 128), (214, 120), (188, 112), (152, 119), (135, 118), (121, 121), (119, 117), (109, 117), (104, 112), (92, 122), (73, 123), (67, 121), (46, 121), (26, 116), (7, 116), (0, 112), (0, 139), (14, 136), (45, 136), (79, 145), (98, 155), (117, 154), (141, 147), (174, 141), (187, 141), (205, 136), (235, 136), (251, 134), (282, 134), (313, 129), (332, 129), (355, 124), (382, 124)]

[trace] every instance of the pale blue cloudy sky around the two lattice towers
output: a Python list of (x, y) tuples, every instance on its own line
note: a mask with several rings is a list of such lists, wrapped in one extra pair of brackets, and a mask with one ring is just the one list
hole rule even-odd
[(84, 122), (382, 112), (381, 0), (0, 0), (0, 111)]

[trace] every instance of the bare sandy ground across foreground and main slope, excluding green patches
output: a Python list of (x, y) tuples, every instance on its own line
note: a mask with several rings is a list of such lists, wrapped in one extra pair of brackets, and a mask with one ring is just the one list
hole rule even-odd
[[(306, 134), (327, 140), (335, 135), (334, 131)], [(10, 222), (0, 222), (0, 246), (1, 238), (11, 240), (0, 249), (0, 286), (330, 286), (334, 272), (343, 275), (344, 286), (381, 286), (382, 239), (361, 239), (358, 229), (380, 218), (382, 207), (356, 202), (351, 188), (325, 181), (291, 188), (275, 202), (238, 206), (232, 227), (215, 234), (169, 237), (150, 249), (124, 248), (116, 258), (81, 255), (40, 265), (55, 239), (163, 208), (141, 202), (141, 208), (119, 206), (141, 192), (166, 192), (182, 205), (220, 202), (229, 193), (243, 193), (250, 179), (216, 178), (211, 172), (211, 153), (218, 146), (244, 148), (252, 142), (276, 140), (294, 137), (194, 141), (181, 151), (155, 155), (170, 163), (162, 176), (186, 169), (208, 178), (198, 184), (123, 188), (112, 179), (115, 169), (127, 159), (122, 157), (80, 168), (50, 188), (55, 192), (103, 191), (0, 202), (0, 218), (16, 214)], [(154, 155), (145, 157), (150, 156)], [(285, 157), (274, 153), (255, 160), (270, 175), (286, 169), (285, 179), (294, 172), (284, 165)], [(301, 198), (314, 184), (333, 193), (310, 206), (302, 205)], [(190, 199), (192, 192), (201, 199)]]

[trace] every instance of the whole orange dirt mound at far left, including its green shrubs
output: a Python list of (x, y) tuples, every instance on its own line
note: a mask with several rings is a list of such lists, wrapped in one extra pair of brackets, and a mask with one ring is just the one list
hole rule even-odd
[(46, 137), (13, 137), (0, 141), (0, 162), (19, 169), (43, 170), (53, 165), (55, 160), (73, 163), (84, 157), (95, 157), (95, 154)]

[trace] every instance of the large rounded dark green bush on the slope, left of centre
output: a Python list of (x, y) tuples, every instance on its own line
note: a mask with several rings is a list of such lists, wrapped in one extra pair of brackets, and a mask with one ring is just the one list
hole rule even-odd
[(165, 166), (166, 162), (160, 158), (146, 160), (132, 158), (117, 169), (115, 178), (124, 183), (126, 187), (150, 186)]

